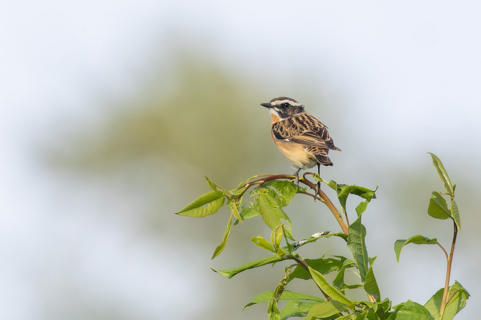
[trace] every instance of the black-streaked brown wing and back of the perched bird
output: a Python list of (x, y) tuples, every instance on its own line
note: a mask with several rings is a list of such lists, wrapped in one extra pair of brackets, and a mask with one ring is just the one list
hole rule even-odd
[(300, 113), (273, 124), (272, 131), (278, 140), (341, 151), (334, 146), (327, 127), (307, 113)]

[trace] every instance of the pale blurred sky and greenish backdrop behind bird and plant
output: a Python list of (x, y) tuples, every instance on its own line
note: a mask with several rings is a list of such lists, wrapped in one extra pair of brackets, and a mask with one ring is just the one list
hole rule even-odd
[[(363, 223), (381, 296), (424, 304), (444, 285), (434, 246), (452, 224), (427, 215), (456, 183), (463, 233), (451, 282), (481, 292), (481, 5), (476, 1), (2, 1), (0, 4), (0, 315), (12, 320), (266, 319), (242, 308), (284, 265), (228, 280), (266, 252), (260, 218), (221, 240), (228, 210), (172, 214), (209, 190), (291, 174), (260, 103), (289, 96), (329, 126), (342, 153), (321, 176), (376, 188)], [(332, 190), (324, 187), (335, 199)], [(354, 201), (356, 200), (356, 201)], [(358, 203), (352, 196), (348, 210)], [(338, 231), (296, 197), (294, 237)], [(478, 230), (478, 231), (476, 231)], [(339, 239), (304, 258), (349, 251)], [(288, 289), (318, 294), (299, 280)], [(360, 293), (352, 297), (365, 298)]]

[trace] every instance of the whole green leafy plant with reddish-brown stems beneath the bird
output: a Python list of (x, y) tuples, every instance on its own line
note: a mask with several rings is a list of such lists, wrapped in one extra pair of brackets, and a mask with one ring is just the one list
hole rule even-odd
[[(245, 309), (257, 303), (267, 302), (269, 320), (285, 320), (291, 317), (304, 317), (306, 320), (451, 320), (457, 312), (464, 308), (466, 300), (469, 298), (469, 293), (457, 281), (449, 285), (456, 236), (457, 231), (461, 231), (461, 222), (455, 201), (456, 185), (451, 183), (441, 160), (434, 154), (431, 154), (431, 157), (446, 192), (432, 192), (428, 214), (436, 219), (451, 219), (453, 221), (454, 235), (451, 251), (448, 254), (436, 238), (430, 239), (421, 235), (397, 240), (394, 243), (397, 261), (399, 261), (401, 250), (409, 243), (438, 245), (446, 254), (445, 286), (437, 291), (424, 305), (408, 300), (393, 306), (389, 298), (382, 299), (373, 271), (376, 257), (368, 256), (365, 241), (366, 228), (361, 223), (363, 213), (366, 211), (369, 202), (376, 199), (377, 188), (371, 190), (356, 185), (338, 184), (333, 180), (328, 182), (314, 173), (306, 172), (298, 181), (306, 186), (304, 188), (293, 182), (296, 177), (279, 174), (254, 176), (245, 182), (241, 182), (236, 189), (228, 191), (205, 177), (212, 191), (201, 195), (176, 214), (204, 217), (214, 214), (227, 202), (231, 214), (224, 236), (219, 246), (215, 248), (212, 259), (225, 248), (232, 225), (238, 225), (239, 222), (257, 215), (262, 217), (264, 223), (272, 230), (270, 239), (256, 236), (252, 238), (252, 242), (254, 245), (269, 251), (269, 255), (265, 258), (247, 262), (234, 269), (212, 270), (232, 278), (248, 269), (280, 261), (292, 261), (291, 265), (285, 267), (284, 277), (273, 291), (259, 294), (244, 307)], [(318, 194), (307, 192), (307, 188), (316, 190), (316, 184), (308, 180), (306, 175), (311, 175), (316, 182), (324, 182), (336, 191), (341, 205), (339, 211), (322, 190), (318, 190)], [(243, 201), (246, 192), (251, 188), (253, 189), (249, 193), (250, 199)], [(292, 233), (291, 219), (282, 208), (289, 205), (297, 194), (304, 194), (324, 203), (339, 223), (341, 232), (331, 233), (326, 231), (296, 241)], [(346, 201), (349, 195), (355, 195), (362, 199), (355, 208), (356, 219), (351, 224), (349, 224), (346, 210)], [(448, 196), (450, 208), (443, 196)], [(342, 214), (344, 214), (345, 220)], [(234, 218), (235, 221), (232, 224)], [(297, 249), (302, 246), (313, 243), (320, 238), (329, 237), (342, 238), (353, 256), (346, 258), (323, 255), (316, 259), (304, 259), (296, 253)], [(358, 275), (360, 280), (358, 283), (345, 283), (344, 274), (347, 269)], [(325, 275), (331, 272), (337, 274), (332, 283), (329, 283)], [(286, 290), (289, 282), (294, 279), (314, 281), (322, 297)], [(346, 290), (355, 288), (364, 289), (367, 295), (365, 301), (352, 300), (345, 295)], [(288, 301), (288, 303), (279, 310), (279, 301)]]

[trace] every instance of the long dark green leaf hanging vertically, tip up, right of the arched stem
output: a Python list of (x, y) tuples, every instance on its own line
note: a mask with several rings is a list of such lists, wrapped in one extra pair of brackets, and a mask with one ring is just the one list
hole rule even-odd
[(354, 260), (359, 269), (361, 281), (366, 281), (367, 273), (367, 249), (366, 249), (366, 227), (361, 224), (361, 216), (354, 221), (348, 228), (349, 238), (347, 240), (347, 247), (354, 255)]

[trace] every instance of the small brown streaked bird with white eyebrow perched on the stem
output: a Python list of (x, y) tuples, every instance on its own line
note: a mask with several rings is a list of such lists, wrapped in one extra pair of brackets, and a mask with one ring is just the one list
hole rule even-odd
[[(261, 106), (269, 109), (271, 138), (294, 169), (299, 186), (299, 171), (317, 165), (332, 166), (329, 150), (341, 151), (334, 145), (328, 127), (304, 110), (304, 106), (294, 99), (281, 96)], [(317, 184), (320, 187), (320, 182)], [(317, 193), (317, 190), (316, 190)]]

